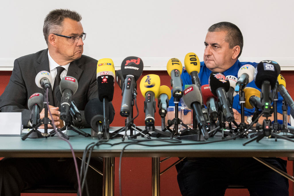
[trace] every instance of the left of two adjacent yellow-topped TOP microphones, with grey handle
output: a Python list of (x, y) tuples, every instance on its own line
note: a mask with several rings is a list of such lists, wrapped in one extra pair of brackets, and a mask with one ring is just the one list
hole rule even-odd
[(166, 65), (167, 73), (171, 76), (171, 86), (173, 87), (174, 100), (178, 101), (183, 96), (182, 92), (182, 63), (177, 58), (171, 58)]

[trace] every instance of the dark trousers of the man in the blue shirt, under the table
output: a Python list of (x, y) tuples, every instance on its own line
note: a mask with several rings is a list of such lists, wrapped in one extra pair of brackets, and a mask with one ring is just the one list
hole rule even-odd
[[(286, 172), (287, 161), (263, 160)], [(289, 195), (288, 179), (253, 158), (186, 158), (176, 168), (182, 195), (224, 195), (232, 184), (245, 186), (250, 195)]]

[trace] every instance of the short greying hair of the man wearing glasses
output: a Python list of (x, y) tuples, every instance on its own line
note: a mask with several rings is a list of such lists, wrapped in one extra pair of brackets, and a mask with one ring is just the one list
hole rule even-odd
[(61, 33), (62, 22), (65, 18), (75, 20), (77, 22), (81, 21), (82, 16), (76, 12), (69, 9), (54, 9), (47, 14), (44, 19), (43, 34), (48, 45), (48, 36), (51, 33)]

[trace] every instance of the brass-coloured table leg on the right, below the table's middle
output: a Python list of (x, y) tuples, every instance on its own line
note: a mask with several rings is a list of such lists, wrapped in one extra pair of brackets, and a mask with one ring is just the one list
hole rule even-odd
[(152, 195), (160, 195), (159, 157), (152, 157)]

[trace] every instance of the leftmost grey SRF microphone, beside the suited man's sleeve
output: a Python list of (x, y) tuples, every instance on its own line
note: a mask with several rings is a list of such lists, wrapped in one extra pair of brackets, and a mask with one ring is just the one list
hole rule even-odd
[(32, 94), (28, 100), (28, 108), (32, 112), (30, 122), (35, 127), (40, 119), (40, 110), (44, 108), (44, 96), (41, 93)]

